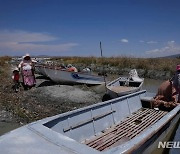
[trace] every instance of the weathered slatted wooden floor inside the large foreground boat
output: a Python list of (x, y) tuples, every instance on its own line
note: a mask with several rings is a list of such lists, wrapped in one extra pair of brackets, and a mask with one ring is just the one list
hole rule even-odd
[(119, 124), (103, 131), (101, 135), (84, 141), (84, 144), (99, 151), (118, 146), (140, 134), (147, 127), (161, 119), (166, 113), (165, 111), (141, 108)]

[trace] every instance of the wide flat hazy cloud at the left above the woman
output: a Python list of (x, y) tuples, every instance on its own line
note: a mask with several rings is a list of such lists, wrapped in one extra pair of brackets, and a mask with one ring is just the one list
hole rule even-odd
[(78, 46), (77, 43), (50, 44), (53, 41), (58, 41), (58, 38), (47, 33), (0, 31), (0, 51), (62, 52)]

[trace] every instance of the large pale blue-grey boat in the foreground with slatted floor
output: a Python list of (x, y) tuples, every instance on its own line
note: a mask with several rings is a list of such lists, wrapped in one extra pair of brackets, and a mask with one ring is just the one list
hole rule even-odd
[[(161, 153), (180, 118), (171, 111), (148, 108), (146, 91), (45, 118), (0, 137), (5, 154)], [(146, 106), (146, 108), (144, 108)]]

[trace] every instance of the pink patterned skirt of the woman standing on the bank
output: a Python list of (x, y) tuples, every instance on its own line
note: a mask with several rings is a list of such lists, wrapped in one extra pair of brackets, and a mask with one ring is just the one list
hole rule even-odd
[(32, 70), (22, 71), (23, 83), (26, 86), (33, 86), (36, 84), (35, 76)]

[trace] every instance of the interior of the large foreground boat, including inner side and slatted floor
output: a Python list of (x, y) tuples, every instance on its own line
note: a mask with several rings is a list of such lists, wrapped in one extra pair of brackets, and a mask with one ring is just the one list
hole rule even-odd
[(151, 108), (145, 91), (65, 113), (44, 126), (98, 151), (126, 143), (167, 111)]

